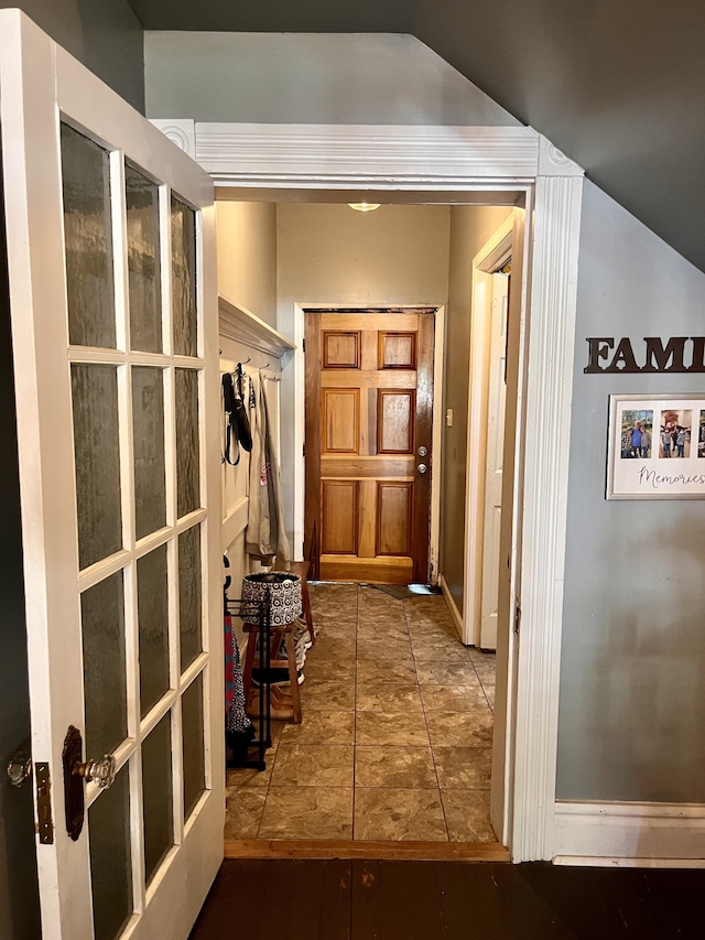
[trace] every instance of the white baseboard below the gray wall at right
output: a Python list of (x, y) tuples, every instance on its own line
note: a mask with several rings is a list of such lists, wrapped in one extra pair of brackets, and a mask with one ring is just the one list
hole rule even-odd
[(560, 865), (705, 867), (702, 803), (556, 802)]

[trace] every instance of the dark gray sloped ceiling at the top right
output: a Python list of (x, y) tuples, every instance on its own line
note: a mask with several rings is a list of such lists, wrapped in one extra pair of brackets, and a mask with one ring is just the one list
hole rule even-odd
[(705, 270), (703, 0), (129, 0), (148, 30), (426, 43)]

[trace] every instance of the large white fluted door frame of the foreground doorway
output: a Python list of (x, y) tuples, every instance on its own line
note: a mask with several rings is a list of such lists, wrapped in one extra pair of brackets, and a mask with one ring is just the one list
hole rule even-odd
[(516, 205), (523, 194), (532, 206), (520, 413), (524, 429), (553, 433), (541, 441), (525, 433), (520, 454), (522, 619), (506, 703), (517, 720), (508, 728), (503, 834), (514, 862), (551, 858), (583, 170), (523, 127), (155, 123), (193, 147), (216, 185), (238, 193), (232, 198), (295, 191), (313, 202), (334, 190), (377, 191), (389, 202), (416, 194), (421, 203)]

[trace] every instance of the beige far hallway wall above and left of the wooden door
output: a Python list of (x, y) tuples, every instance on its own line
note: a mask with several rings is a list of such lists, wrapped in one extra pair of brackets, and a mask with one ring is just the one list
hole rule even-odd
[[(286, 203), (278, 207), (278, 329), (293, 338), (294, 303), (445, 304), (448, 298), (448, 206)], [(282, 380), (282, 465), (293, 466), (293, 374)], [(297, 455), (301, 460), (301, 455)], [(284, 472), (293, 529), (293, 477)], [(302, 545), (294, 544), (296, 558)]]

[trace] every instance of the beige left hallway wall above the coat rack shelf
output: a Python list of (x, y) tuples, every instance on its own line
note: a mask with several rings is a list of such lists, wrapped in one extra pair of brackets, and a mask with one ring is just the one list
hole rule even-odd
[(260, 320), (276, 323), (276, 206), (216, 203), (218, 290)]

